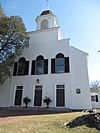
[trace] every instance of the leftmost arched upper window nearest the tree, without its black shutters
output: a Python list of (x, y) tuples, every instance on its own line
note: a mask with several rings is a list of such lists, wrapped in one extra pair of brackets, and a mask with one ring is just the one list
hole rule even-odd
[(22, 57), (18, 61), (18, 69), (17, 69), (17, 75), (24, 75), (25, 74), (25, 58)]

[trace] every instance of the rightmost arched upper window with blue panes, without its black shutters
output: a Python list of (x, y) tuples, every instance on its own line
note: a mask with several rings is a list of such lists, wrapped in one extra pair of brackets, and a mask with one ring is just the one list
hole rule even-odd
[(64, 55), (59, 53), (56, 55), (55, 59), (55, 72), (63, 73), (65, 71), (65, 58)]

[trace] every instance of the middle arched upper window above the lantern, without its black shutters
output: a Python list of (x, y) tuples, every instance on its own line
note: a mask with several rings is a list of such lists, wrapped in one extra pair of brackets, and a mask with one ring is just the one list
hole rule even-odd
[(44, 73), (44, 57), (38, 56), (36, 58), (36, 74), (43, 74)]

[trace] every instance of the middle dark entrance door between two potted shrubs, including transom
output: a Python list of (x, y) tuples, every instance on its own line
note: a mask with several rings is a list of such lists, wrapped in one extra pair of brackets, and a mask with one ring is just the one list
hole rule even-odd
[(42, 86), (35, 87), (34, 106), (42, 105)]

